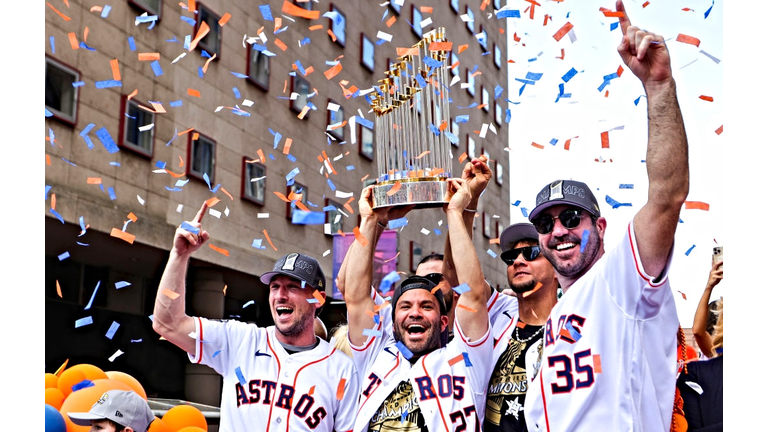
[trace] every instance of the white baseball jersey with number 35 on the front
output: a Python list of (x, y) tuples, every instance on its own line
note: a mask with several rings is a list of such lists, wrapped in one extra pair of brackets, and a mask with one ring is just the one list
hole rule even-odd
[(652, 280), (630, 222), (565, 292), (544, 328), (541, 370), (528, 377), (529, 431), (669, 430), (679, 325), (670, 262)]

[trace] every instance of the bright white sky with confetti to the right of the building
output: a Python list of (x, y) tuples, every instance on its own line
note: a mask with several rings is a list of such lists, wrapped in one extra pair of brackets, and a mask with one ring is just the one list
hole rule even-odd
[[(669, 275), (680, 322), (690, 327), (709, 277), (712, 248), (727, 243), (722, 229), (722, 177), (718, 175), (722, 174), (722, 145), (727, 135), (716, 133), (724, 123), (723, 10), (721, 3), (712, 0), (651, 1), (645, 7), (642, 3), (627, 0), (625, 8), (632, 24), (662, 35), (670, 51), (688, 136), (688, 201), (709, 206), (708, 210), (682, 210)], [(616, 4), (606, 0), (541, 2), (533, 19), (529, 5), (523, 0), (508, 2), (508, 8), (520, 10), (521, 15), (507, 19), (513, 62), (509, 63), (512, 117), (506, 174), (511, 182), (511, 223), (527, 221), (536, 194), (549, 182), (583, 181), (607, 219), (605, 240), (610, 249), (648, 193), (645, 93), (616, 50), (621, 28), (614, 25), (612, 30), (612, 24), (618, 18), (606, 17), (600, 10), (613, 11)], [(543, 25), (545, 15), (547, 24)], [(555, 35), (568, 23), (570, 32), (558, 41)], [(678, 41), (680, 34), (697, 38), (698, 46)], [(623, 73), (604, 85), (604, 77), (617, 73), (620, 66)], [(605, 132), (608, 148), (601, 144)], [(724, 278), (711, 298), (724, 297), (727, 284)]]

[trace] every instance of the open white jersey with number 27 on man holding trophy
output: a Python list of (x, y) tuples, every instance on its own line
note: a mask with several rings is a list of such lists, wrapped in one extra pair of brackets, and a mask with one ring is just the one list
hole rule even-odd
[[(375, 301), (383, 303), (378, 294)], [(410, 382), (415, 397), (385, 410), (407, 416), (410, 405), (418, 405), (430, 431), (478, 431), (493, 370), (490, 325), (482, 338), (468, 342), (455, 321), (453, 340), (411, 365), (396, 346), (391, 305), (382, 308), (378, 316), (373, 331), (380, 335), (369, 335), (362, 346), (351, 345), (362, 384), (354, 431), (367, 431), (372, 420), (382, 417), (382, 403), (405, 380)]]

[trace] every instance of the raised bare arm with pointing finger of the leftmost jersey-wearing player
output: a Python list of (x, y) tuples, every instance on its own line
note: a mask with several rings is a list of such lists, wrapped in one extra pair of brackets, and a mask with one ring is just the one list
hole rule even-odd
[(157, 288), (152, 316), (152, 328), (190, 355), (195, 355), (195, 339), (189, 337), (195, 331), (195, 322), (185, 310), (187, 265), (192, 252), (200, 249), (210, 238), (208, 231), (202, 229), (207, 209), (208, 204), (204, 202), (195, 218), (187, 222), (198, 230), (197, 233), (176, 228), (173, 248)]

